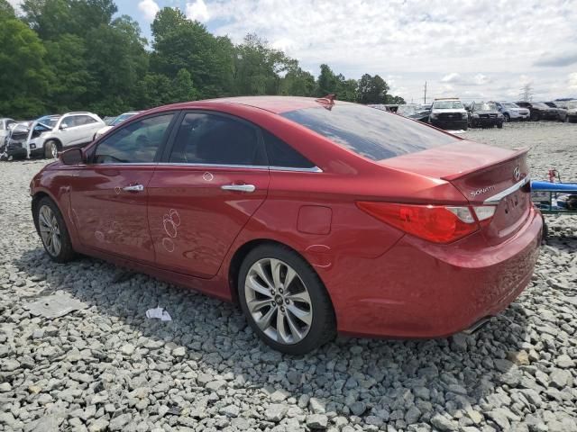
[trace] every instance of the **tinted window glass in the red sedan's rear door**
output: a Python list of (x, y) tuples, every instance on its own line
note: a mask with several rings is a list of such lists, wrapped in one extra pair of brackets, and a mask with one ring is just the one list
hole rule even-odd
[(257, 130), (224, 115), (189, 112), (179, 126), (170, 162), (263, 166), (266, 158)]

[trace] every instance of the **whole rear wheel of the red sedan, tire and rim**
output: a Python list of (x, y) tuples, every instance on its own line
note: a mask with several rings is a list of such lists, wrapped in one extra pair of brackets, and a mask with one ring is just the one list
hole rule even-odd
[(244, 258), (238, 280), (244, 316), (270, 347), (306, 354), (333, 339), (336, 320), (325, 286), (296, 252), (262, 245)]

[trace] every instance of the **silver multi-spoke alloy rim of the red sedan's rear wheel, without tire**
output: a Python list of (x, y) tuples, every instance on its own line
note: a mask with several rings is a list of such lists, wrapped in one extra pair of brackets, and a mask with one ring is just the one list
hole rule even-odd
[(283, 345), (307, 337), (313, 308), (307, 286), (287, 263), (274, 258), (255, 262), (245, 279), (244, 297), (261, 331)]

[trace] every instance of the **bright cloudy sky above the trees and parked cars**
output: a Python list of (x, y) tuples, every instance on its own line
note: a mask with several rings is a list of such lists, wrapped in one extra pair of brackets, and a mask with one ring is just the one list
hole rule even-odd
[[(11, 0), (19, 3), (21, 0)], [(317, 76), (379, 74), (408, 102), (577, 97), (577, 0), (116, 0), (150, 40), (160, 8), (234, 42), (255, 32)]]

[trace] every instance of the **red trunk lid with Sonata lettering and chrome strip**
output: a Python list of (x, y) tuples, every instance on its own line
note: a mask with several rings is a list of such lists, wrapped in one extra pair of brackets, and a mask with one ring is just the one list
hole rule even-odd
[(380, 164), (450, 182), (473, 206), (495, 206), (493, 217), (481, 222), (490, 244), (513, 236), (527, 219), (527, 148), (508, 150), (461, 140)]

